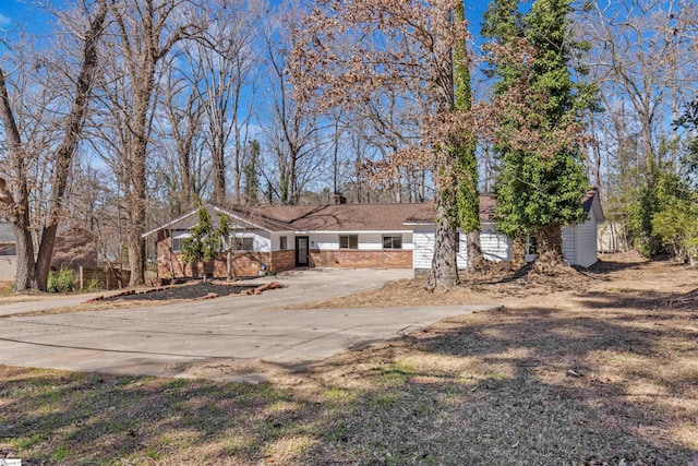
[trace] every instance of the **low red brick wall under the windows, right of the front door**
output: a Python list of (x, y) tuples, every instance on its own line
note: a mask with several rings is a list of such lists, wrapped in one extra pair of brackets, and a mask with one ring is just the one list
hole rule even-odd
[(412, 268), (412, 251), (399, 250), (318, 250), (310, 251), (312, 266), (347, 268)]

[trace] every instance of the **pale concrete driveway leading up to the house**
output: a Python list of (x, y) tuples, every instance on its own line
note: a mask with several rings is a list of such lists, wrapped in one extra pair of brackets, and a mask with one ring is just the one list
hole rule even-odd
[[(267, 369), (302, 367), (445, 318), (494, 308), (273, 310), (376, 287), (410, 274), (306, 271), (278, 277), (286, 287), (260, 296), (40, 316), (5, 315), (0, 319), (0, 363), (260, 380), (264, 378), (260, 362)], [(0, 311), (3, 308), (0, 306)], [(225, 373), (212, 374), (212, 368)]]

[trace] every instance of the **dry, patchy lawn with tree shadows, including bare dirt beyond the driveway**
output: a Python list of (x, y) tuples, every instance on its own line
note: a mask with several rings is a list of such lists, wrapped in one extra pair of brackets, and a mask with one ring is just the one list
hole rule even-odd
[(497, 268), (445, 294), (413, 280), (315, 303), (504, 309), (267, 383), (0, 367), (0, 457), (698, 465), (698, 274), (634, 255), (603, 260), (555, 278)]

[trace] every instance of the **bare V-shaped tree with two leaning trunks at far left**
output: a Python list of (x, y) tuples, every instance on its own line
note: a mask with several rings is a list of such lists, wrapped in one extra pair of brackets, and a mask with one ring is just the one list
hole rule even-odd
[[(2, 168), (0, 168), (0, 206), (7, 213), (14, 229), (17, 251), (15, 280), (17, 291), (29, 288), (46, 290), (71, 165), (81, 140), (97, 70), (97, 44), (103, 35), (107, 13), (107, 0), (97, 0), (94, 7), (85, 1), (81, 3), (79, 10), (59, 15), (62, 24), (72, 32), (72, 37), (79, 40), (81, 56), (76, 68), (77, 75), (70, 76), (74, 82), (71, 104), (69, 104), (70, 110), (59, 123), (63, 128), (63, 135), (57, 146), (48, 148), (50, 154), (46, 158), (52, 164), (52, 174), (36, 259), (32, 229), (37, 228), (38, 231), (38, 226), (33, 226), (31, 222), (32, 186), (28, 181), (29, 166), (27, 162), (32, 160), (31, 153), (37, 147), (34, 146), (35, 141), (23, 139), (23, 128), (17, 124), (17, 100), (11, 98), (5, 71), (0, 68), (0, 120), (7, 139), (7, 154), (2, 160)], [(48, 61), (46, 63), (49, 64)], [(37, 65), (38, 63), (23, 64)], [(70, 65), (57, 65), (56, 70), (67, 71), (71, 68)], [(50, 83), (44, 83), (44, 85)], [(36, 83), (36, 85), (40, 84)], [(60, 111), (61, 109), (53, 108), (51, 110)]]

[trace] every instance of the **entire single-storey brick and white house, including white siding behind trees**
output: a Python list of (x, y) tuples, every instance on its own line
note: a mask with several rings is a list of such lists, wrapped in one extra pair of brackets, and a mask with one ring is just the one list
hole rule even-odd
[[(234, 244), (231, 268), (236, 276), (296, 267), (412, 268), (416, 274), (431, 268), (433, 203), (204, 207), (214, 227), (219, 215), (230, 219)], [(489, 260), (510, 261), (512, 241), (496, 231), (494, 207), (494, 196), (480, 196), (482, 251)], [(588, 222), (563, 229), (563, 250), (570, 264), (586, 267), (597, 261), (597, 224), (603, 222), (598, 191), (587, 193), (582, 207)], [(198, 272), (182, 261), (182, 241), (197, 222), (195, 208), (144, 235), (156, 239), (158, 276), (192, 276)], [(466, 238), (460, 234), (459, 267), (465, 267), (467, 260)], [(224, 276), (226, 267), (221, 254), (206, 264), (206, 274)]]

